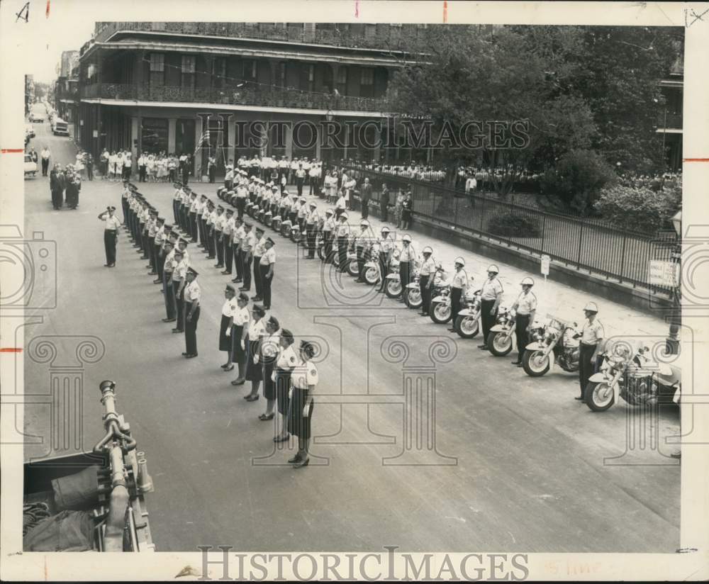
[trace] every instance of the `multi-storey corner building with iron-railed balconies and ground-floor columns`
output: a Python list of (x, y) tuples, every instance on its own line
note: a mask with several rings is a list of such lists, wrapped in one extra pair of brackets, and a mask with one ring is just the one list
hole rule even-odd
[(184, 152), (195, 176), (208, 155), (220, 169), (240, 155), (379, 159), (349, 134), (378, 142), (389, 80), (424, 27), (96, 23), (79, 57), (79, 143), (94, 157)]

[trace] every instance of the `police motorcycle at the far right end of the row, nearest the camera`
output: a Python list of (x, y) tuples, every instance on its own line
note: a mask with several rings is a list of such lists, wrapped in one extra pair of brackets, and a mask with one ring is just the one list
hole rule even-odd
[(681, 391), (681, 370), (653, 361), (647, 347), (634, 351), (619, 341), (601, 359), (601, 371), (588, 378), (584, 389), (584, 401), (593, 412), (605, 412), (619, 397), (629, 405), (653, 408), (661, 400), (676, 400)]

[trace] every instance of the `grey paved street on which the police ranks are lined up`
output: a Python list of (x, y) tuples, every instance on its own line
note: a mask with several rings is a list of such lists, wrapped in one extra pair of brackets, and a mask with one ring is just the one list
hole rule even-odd
[[(72, 162), (71, 140), (52, 137), (48, 123), (35, 123), (35, 130), (30, 145), (38, 152), (47, 142), (55, 162)], [(216, 200), (217, 185), (192, 186)], [(84, 448), (103, 435), (98, 384), (113, 379), (118, 411), (130, 422), (155, 482), (147, 505), (159, 551), (225, 544), (244, 551), (399, 546), (401, 551), (667, 552), (679, 547), (679, 465), (649, 449), (620, 458), (627, 442), (625, 402), (594, 414), (573, 399), (579, 391), (575, 375), (552, 369), (543, 378), (530, 378), (510, 365), (513, 355), (481, 352), (479, 339), (461, 339), (402, 304), (381, 296), (376, 303), (360, 303), (357, 298), (369, 287), (349, 276), (328, 283), (320, 262), (302, 261), (295, 245), (277, 237), (272, 313), (298, 337), (316, 338), (328, 350), (318, 364), (313, 412), (318, 438), (311, 466), (290, 468), (284, 463), (291, 450), (274, 451), (272, 422), (257, 419), (264, 398), (245, 402), (248, 387), (231, 386), (234, 372), (219, 368), (225, 360), (217, 349), (228, 276), (213, 269), (215, 262), (188, 248), (200, 273), (203, 308), (199, 357), (185, 360), (184, 338), (161, 322), (160, 286), (152, 284), (146, 261), (125, 233), (118, 240), (116, 268), (103, 266), (103, 225), (96, 215), (108, 204), (120, 214), (120, 184), (84, 181), (79, 208), (60, 211), (52, 210), (48, 179), (28, 179), (25, 187), (25, 230), (55, 240), (58, 257), (57, 309), (41, 325), (26, 328), (26, 341), (36, 335), (103, 340), (106, 355), (87, 364), (84, 374)], [(141, 184), (140, 191), (172, 223), (172, 186)], [(432, 240), (415, 239), (414, 245), (420, 249), (428, 242), (444, 263), (462, 254)], [(469, 274), (480, 281), (489, 262), (464, 255)], [(509, 305), (527, 274), (500, 267)], [(346, 297), (347, 303), (328, 306), (323, 287), (328, 298)], [(547, 290), (537, 288), (540, 315), (581, 322), (586, 296), (552, 282)], [(599, 304), (609, 335), (664, 335), (657, 319)], [(388, 349), (389, 337), (408, 344), (408, 361), (392, 362), (398, 349)], [(449, 362), (428, 358), (437, 339), (450, 339), (449, 348), (454, 343), (457, 354)], [(26, 387), (47, 387), (48, 365), (27, 357), (25, 364)], [(411, 372), (402, 371), (412, 366), (428, 366), (416, 375), (430, 375), (435, 383), (430, 422), (435, 420), (438, 455), (422, 447), (411, 458), (398, 459), (401, 466), (386, 464), (383, 459), (406, 447), (401, 394), (403, 375)], [(669, 454), (673, 447), (664, 437), (678, 430), (676, 410), (661, 411), (653, 423), (661, 452)], [(47, 435), (48, 411), (26, 408), (26, 432)], [(293, 439), (291, 449), (295, 445)], [(26, 458), (43, 452), (28, 447)], [(428, 466), (415, 464), (421, 462)]]

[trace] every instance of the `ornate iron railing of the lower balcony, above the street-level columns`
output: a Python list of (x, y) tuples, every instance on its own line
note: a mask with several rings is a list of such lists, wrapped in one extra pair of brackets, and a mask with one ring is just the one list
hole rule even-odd
[(131, 101), (186, 101), (223, 103), (240, 106), (274, 108), (325, 109), (333, 111), (367, 111), (381, 113), (385, 98), (332, 96), (287, 87), (225, 86), (201, 88), (182, 86), (138, 86), (138, 84), (102, 83), (82, 87), (82, 97), (128, 99)]

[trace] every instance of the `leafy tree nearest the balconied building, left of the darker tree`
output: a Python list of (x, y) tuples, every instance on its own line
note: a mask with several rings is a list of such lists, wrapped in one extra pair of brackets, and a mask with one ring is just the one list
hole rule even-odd
[[(549, 77), (580, 35), (561, 30), (554, 44), (528, 29), (503, 28), (491, 38), (467, 26), (431, 27), (425, 62), (403, 63), (390, 84), (392, 111), (431, 121), (436, 157), (450, 178), (483, 157), (506, 170), (493, 177), (501, 196), (530, 164), (548, 166), (567, 150), (588, 147), (596, 133), (584, 100), (559, 94)], [(499, 124), (507, 135), (496, 142)], [(509, 140), (514, 130), (518, 139)], [(479, 143), (463, 140), (480, 131)], [(435, 142), (442, 135), (459, 140)]]

